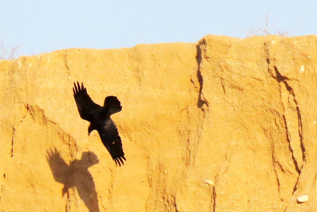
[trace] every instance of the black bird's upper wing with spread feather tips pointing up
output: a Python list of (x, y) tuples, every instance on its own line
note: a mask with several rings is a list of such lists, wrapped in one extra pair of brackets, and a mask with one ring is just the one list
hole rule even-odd
[(90, 122), (93, 121), (97, 114), (102, 110), (102, 107), (91, 100), (83, 83), (81, 83), (80, 86), (77, 81), (76, 86), (74, 82), (73, 91), (80, 117)]

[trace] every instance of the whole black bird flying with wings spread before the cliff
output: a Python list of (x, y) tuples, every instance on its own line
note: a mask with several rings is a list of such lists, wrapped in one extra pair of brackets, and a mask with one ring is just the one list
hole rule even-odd
[(83, 83), (80, 86), (77, 81), (76, 86), (74, 82), (73, 91), (80, 117), (90, 122), (88, 136), (91, 131), (97, 130), (103, 145), (107, 148), (116, 165), (118, 162), (121, 166), (120, 161), (124, 165), (122, 159), (126, 160), (126, 158), (124, 157), (121, 138), (116, 125), (110, 118), (112, 114), (122, 110), (118, 98), (107, 96), (103, 106), (100, 106), (91, 100)]

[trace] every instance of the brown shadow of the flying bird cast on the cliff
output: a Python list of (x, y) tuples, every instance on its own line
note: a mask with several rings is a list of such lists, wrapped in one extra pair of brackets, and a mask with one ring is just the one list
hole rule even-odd
[(88, 171), (90, 166), (99, 163), (98, 157), (93, 152), (83, 152), (80, 160), (75, 159), (68, 165), (55, 148), (55, 150), (47, 151), (46, 159), (54, 179), (64, 184), (62, 197), (68, 189), (76, 187), (88, 210), (100, 211), (94, 179)]

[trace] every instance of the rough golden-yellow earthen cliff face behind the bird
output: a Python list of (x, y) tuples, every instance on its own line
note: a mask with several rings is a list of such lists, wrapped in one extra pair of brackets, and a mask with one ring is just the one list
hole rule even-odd
[[(316, 72), (315, 35), (0, 61), (0, 210), (317, 211)], [(124, 166), (87, 136), (77, 80), (121, 101)]]

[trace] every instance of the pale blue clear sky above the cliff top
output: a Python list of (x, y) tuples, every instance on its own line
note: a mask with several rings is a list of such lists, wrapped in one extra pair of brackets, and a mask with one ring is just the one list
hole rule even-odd
[(0, 39), (7, 49), (19, 46), (16, 56), (197, 42), (208, 34), (245, 37), (252, 27), (265, 24), (267, 13), (273, 32), (317, 34), (316, 0), (2, 0), (0, 8)]

